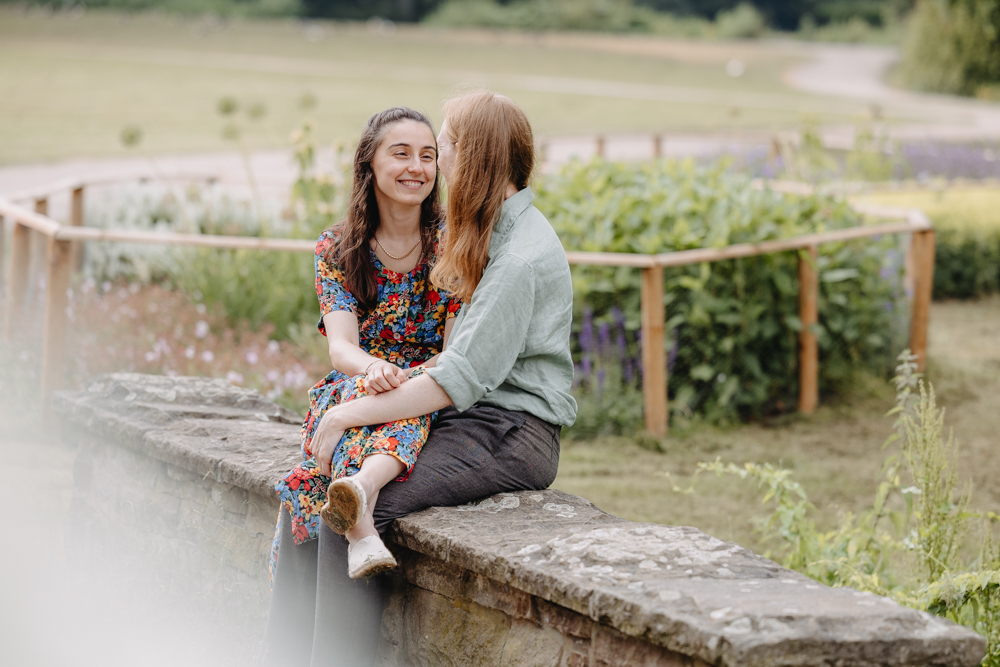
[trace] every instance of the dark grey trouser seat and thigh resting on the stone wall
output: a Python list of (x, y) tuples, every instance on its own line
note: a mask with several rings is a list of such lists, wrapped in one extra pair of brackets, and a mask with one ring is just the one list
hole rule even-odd
[(375, 504), (375, 527), (435, 506), (462, 505), (504, 491), (544, 489), (559, 468), (559, 427), (524, 412), (445, 408), (405, 482)]

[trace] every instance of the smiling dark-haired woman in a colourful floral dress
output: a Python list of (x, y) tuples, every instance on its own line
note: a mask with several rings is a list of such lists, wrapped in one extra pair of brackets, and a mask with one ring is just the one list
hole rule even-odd
[[(330, 407), (393, 390), (416, 369), (434, 365), (458, 310), (428, 279), (441, 218), (430, 121), (405, 107), (375, 114), (355, 152), (347, 215), (316, 244), (319, 330), (328, 339), (333, 370), (309, 392), (304, 461), (275, 487), (282, 512), (271, 549), (272, 576), (283, 522), (301, 545), (316, 539), (321, 515), (346, 533), (349, 576), (396, 565), (375, 531), (371, 509), (378, 489), (409, 475), (431, 415), (351, 429), (325, 465), (314, 456), (315, 433)], [(335, 504), (344, 495), (342, 485), (363, 489), (362, 482), (369, 483), (371, 504), (357, 507), (358, 515), (344, 525), (342, 512), (331, 516), (328, 499)]]

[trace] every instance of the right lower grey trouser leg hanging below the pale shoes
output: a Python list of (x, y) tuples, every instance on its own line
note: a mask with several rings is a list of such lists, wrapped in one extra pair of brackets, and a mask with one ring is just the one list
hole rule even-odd
[(347, 547), (343, 535), (320, 525), (312, 667), (375, 663), (382, 636), (382, 577), (348, 577)]

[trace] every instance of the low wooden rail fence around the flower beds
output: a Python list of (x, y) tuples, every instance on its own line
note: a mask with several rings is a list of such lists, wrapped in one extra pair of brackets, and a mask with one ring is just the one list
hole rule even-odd
[[(91, 183), (93, 184), (93, 183)], [(45, 243), (45, 305), (42, 332), (41, 386), (43, 392), (59, 387), (66, 362), (67, 289), (77, 266), (79, 246), (83, 242), (129, 242), (161, 245), (186, 245), (211, 248), (248, 248), (281, 252), (312, 253), (315, 242), (297, 239), (274, 239), (245, 236), (216, 236), (151, 231), (95, 229), (83, 226), (83, 196), (86, 183), (60, 184), (58, 190), (70, 192), (69, 224), (48, 216), (52, 188), (30, 193), (34, 209), (0, 199), (0, 218), (13, 221), (10, 266), (7, 276), (7, 299), (4, 333), (9, 339), (13, 327), (22, 321), (30, 283), (31, 236)], [(758, 182), (757, 187), (805, 194), (811, 191), (801, 183)], [(817, 248), (823, 243), (869, 238), (882, 234), (910, 234), (906, 256), (907, 292), (913, 295), (910, 321), (910, 349), (917, 355), (923, 370), (926, 364), (927, 325), (930, 315), (934, 276), (934, 229), (917, 209), (856, 205), (855, 209), (872, 218), (889, 220), (880, 224), (806, 234), (790, 239), (731, 245), (724, 248), (682, 250), (658, 255), (629, 253), (567, 252), (570, 264), (633, 267), (642, 272), (642, 393), (646, 429), (655, 436), (667, 434), (667, 359), (664, 324), (663, 269), (666, 267), (718, 262), (739, 257), (753, 257), (776, 252), (799, 254), (799, 403), (801, 412), (810, 413), (819, 402), (819, 348), (812, 325), (819, 321), (819, 275), (816, 271)], [(2, 239), (0, 235), (0, 239)], [(2, 258), (0, 242), (0, 258)]]

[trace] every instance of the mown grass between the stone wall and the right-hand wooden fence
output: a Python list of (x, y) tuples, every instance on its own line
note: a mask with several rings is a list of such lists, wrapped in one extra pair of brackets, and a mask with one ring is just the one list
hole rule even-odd
[[(1000, 505), (1000, 298), (980, 302), (935, 303), (931, 313), (929, 379), (938, 404), (947, 408), (946, 425), (962, 447), (960, 478), (973, 482), (972, 506), (996, 511)], [(820, 361), (822, 363), (822, 360)], [(564, 442), (555, 488), (583, 496), (612, 514), (633, 521), (696, 526), (723, 539), (763, 550), (753, 521), (764, 515), (760, 494), (733, 479), (699, 478), (697, 493), (686, 486), (699, 461), (773, 462), (795, 471), (810, 499), (836, 516), (870, 506), (882, 443), (891, 420), (888, 383), (872, 381), (812, 416), (742, 425), (732, 429), (675, 430), (663, 453), (643, 448), (642, 438), (601, 438)]]

